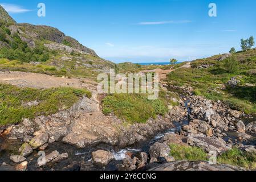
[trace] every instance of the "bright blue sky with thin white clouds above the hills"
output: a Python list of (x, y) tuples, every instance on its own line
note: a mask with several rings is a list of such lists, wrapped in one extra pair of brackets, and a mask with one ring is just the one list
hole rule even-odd
[[(46, 5), (46, 17), (37, 5)], [(240, 49), (256, 37), (255, 0), (0, 0), (18, 22), (46, 24), (79, 40), (105, 59), (179, 61)], [(217, 17), (208, 15), (216, 3)]]

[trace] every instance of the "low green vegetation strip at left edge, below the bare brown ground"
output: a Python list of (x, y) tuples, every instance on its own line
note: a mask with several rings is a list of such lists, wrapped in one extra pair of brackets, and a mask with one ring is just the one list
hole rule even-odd
[[(84, 89), (40, 90), (0, 84), (0, 126), (18, 123), (22, 118), (35, 118), (68, 109), (84, 95), (91, 97), (91, 93)], [(38, 104), (27, 105), (33, 101)]]

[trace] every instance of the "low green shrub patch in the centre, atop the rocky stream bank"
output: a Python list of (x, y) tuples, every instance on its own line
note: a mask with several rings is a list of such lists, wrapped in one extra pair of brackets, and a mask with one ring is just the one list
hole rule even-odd
[(113, 113), (131, 123), (144, 123), (168, 111), (165, 101), (148, 100), (147, 94), (112, 94), (104, 98), (102, 105), (104, 114)]

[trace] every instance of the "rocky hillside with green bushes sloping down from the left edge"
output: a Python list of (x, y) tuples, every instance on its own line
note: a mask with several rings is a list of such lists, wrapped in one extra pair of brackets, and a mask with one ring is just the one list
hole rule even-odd
[(115, 67), (57, 28), (16, 23), (0, 7), (0, 69), (95, 78)]

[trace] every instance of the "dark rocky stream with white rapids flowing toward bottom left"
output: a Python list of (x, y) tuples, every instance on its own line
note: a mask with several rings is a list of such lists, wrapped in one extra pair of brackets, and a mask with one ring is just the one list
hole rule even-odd
[[(180, 91), (181, 98), (185, 97), (185, 94), (183, 93), (183, 90)], [(177, 90), (176, 90), (177, 92)], [(186, 98), (186, 97), (185, 97)], [(190, 114), (189, 109), (189, 100), (188, 98), (185, 99), (185, 107), (188, 110), (188, 115)], [(250, 118), (243, 118), (243, 121), (245, 123), (249, 123), (252, 121), (256, 121), (256, 117), (250, 117)], [(62, 142), (55, 142), (49, 145), (49, 147), (45, 150), (46, 154), (50, 154), (50, 152), (57, 150), (60, 154), (67, 152), (68, 153), (68, 159), (62, 160), (59, 163), (52, 164), (52, 166), (46, 166), (43, 169), (44, 170), (111, 170), (115, 171), (117, 170), (117, 164), (121, 164), (122, 160), (127, 157), (127, 152), (131, 152), (133, 154), (136, 154), (136, 152), (149, 152), (149, 148), (152, 146), (153, 143), (160, 140), (162, 137), (164, 137), (166, 134), (169, 133), (178, 133), (181, 130), (182, 125), (188, 125), (189, 119), (185, 119), (182, 122), (173, 122), (174, 128), (170, 128), (164, 132), (158, 133), (155, 135), (155, 137), (150, 138), (144, 142), (136, 143), (133, 146), (127, 147), (127, 148), (117, 148), (115, 146), (110, 146), (108, 144), (98, 144), (95, 147), (87, 147), (84, 149), (79, 149), (74, 146), (71, 146), (69, 144), (64, 144)], [(256, 136), (255, 136), (256, 137)], [(237, 134), (234, 132), (227, 133), (227, 137), (225, 137), (225, 140), (228, 139), (235, 139), (237, 138)], [(255, 138), (252, 142), (255, 142)], [(17, 140), (9, 140), (0, 135), (0, 166), (3, 162), (10, 164), (11, 166), (15, 166), (13, 162), (10, 160), (10, 155), (19, 155), (18, 154), (18, 148), (21, 146), (21, 142), (18, 142)], [(115, 160), (113, 160), (111, 163), (108, 164), (107, 167), (99, 167), (95, 166), (91, 159), (91, 153), (96, 150), (107, 150), (111, 151)], [(39, 156), (37, 155), (37, 152), (34, 151), (32, 155), (27, 158), (27, 161), (29, 162), (28, 169), (29, 170), (38, 170), (39, 168), (36, 167), (37, 160)], [(1, 168), (0, 168), (1, 170)]]

